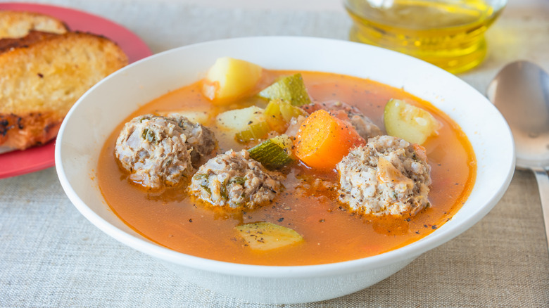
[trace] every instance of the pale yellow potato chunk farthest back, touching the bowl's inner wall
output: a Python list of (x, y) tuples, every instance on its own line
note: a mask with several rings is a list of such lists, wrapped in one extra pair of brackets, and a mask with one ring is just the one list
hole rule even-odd
[(261, 78), (259, 65), (229, 57), (218, 58), (208, 70), (202, 92), (213, 103), (223, 104), (253, 89)]

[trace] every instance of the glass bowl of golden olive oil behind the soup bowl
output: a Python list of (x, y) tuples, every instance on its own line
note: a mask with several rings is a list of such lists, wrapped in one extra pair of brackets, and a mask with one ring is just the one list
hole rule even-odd
[(506, 0), (343, 0), (353, 18), (349, 38), (459, 73), (486, 56), (484, 32)]

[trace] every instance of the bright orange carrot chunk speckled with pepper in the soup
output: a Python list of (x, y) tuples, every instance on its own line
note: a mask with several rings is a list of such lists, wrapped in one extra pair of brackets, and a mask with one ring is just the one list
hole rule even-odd
[(296, 156), (309, 167), (334, 169), (351, 148), (365, 144), (346, 121), (317, 110), (301, 124), (294, 141)]

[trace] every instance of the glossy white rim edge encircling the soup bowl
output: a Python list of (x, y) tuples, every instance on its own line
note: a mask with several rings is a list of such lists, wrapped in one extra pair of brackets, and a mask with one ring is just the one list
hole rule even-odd
[[(180, 46), (175, 49), (169, 49), (167, 51), (156, 53), (153, 56), (143, 58), (141, 60), (138, 60), (135, 63), (127, 65), (125, 68), (122, 68), (117, 72), (114, 72), (112, 75), (106, 77), (105, 79), (101, 80), (101, 82), (92, 86), (92, 88), (89, 89), (84, 95), (82, 95), (82, 97), (77, 101), (77, 103), (75, 103), (75, 105), (70, 109), (65, 119), (70, 119), (72, 113), (74, 113), (74, 111), (77, 108), (79, 108), (82, 101), (85, 100), (85, 98), (90, 92), (94, 91), (98, 87), (101, 87), (106, 82), (109, 82), (109, 80), (113, 79), (113, 77), (115, 77), (116, 75), (124, 74), (125, 72), (127, 72), (127, 70), (131, 70), (135, 66), (141, 65), (141, 63), (150, 61), (152, 59), (167, 56), (170, 53), (177, 53), (180, 50), (194, 49), (198, 46), (224, 44), (227, 41), (238, 43), (239, 41), (248, 41), (248, 40), (255, 40), (255, 39), (317, 41), (317, 42), (324, 42), (325, 44), (343, 44), (343, 45), (356, 44), (356, 45), (360, 45), (361, 46), (360, 48), (363, 48), (363, 49), (373, 49), (378, 51), (381, 50), (382, 52), (391, 54), (393, 56), (398, 55), (398, 57), (406, 57), (407, 61), (422, 63), (421, 65), (424, 66), (425, 68), (430, 67), (429, 68), (430, 70), (439, 70), (441, 71), (439, 73), (451, 75), (449, 72), (446, 72), (440, 68), (435, 67), (434, 65), (426, 63), (417, 58), (412, 58), (411, 56), (407, 56), (402, 53), (398, 53), (396, 51), (389, 51), (386, 49), (381, 49), (376, 46), (364, 45), (364, 44), (359, 44), (351, 41), (343, 41), (338, 39), (326, 39), (326, 38), (318, 38), (318, 37), (291, 37), (291, 36), (290, 37), (289, 36), (239, 37), (239, 38), (232, 38), (232, 39), (219, 39), (214, 41), (205, 41), (198, 44), (191, 44), (187, 46)], [(474, 89), (472, 86), (467, 84), (465, 81), (463, 81), (459, 77), (456, 77), (455, 75), (451, 75), (451, 78), (453, 78), (456, 83), (465, 85), (468, 88), (474, 91), (477, 91), (476, 89)], [(478, 91), (477, 93), (479, 94), (479, 96), (482, 96), (484, 99), (486, 99)], [(493, 107), (493, 105), (492, 105), (492, 108), (494, 108), (496, 112), (499, 113), (497, 109)], [(503, 116), (501, 116), (501, 118), (503, 119)], [(500, 200), (500, 198), (503, 196), (503, 194), (507, 190), (507, 186), (509, 186), (510, 184), (513, 172), (515, 170), (515, 146), (514, 146), (514, 143), (512, 142), (512, 135), (510, 132), (510, 128), (507, 125), (507, 128), (504, 129), (503, 133), (509, 136), (510, 143), (511, 143), (509, 146), (511, 146), (512, 148), (512, 160), (508, 162), (507, 165), (501, 166), (501, 167), (507, 167), (507, 170), (505, 172), (505, 174), (507, 174), (507, 177), (505, 177), (505, 179), (500, 179), (501, 185), (499, 186), (498, 190), (491, 196), (491, 198), (489, 198), (486, 201), (486, 205), (477, 208), (472, 213), (472, 218), (453, 224), (453, 227), (451, 229), (449, 228), (445, 229), (441, 227), (440, 229), (429, 234), (429, 236), (425, 236), (424, 238), (421, 238), (420, 240), (417, 240), (413, 243), (405, 245), (401, 248), (390, 250), (388, 252), (384, 252), (379, 255), (363, 257), (361, 259), (353, 259), (353, 260), (348, 260), (343, 262), (335, 262), (335, 263), (327, 263), (327, 264), (311, 264), (311, 265), (291, 265), (291, 266), (239, 264), (239, 263), (232, 263), (232, 262), (217, 261), (214, 259), (206, 259), (203, 257), (196, 257), (193, 255), (187, 255), (182, 252), (176, 252), (175, 250), (170, 250), (169, 248), (165, 248), (155, 243), (151, 243), (142, 238), (137, 238), (136, 236), (133, 236), (130, 233), (127, 233), (126, 231), (123, 231), (121, 229), (118, 229), (116, 226), (113, 226), (112, 224), (107, 222), (105, 219), (103, 219), (99, 214), (94, 212), (94, 210), (89, 208), (84, 203), (84, 201), (78, 196), (75, 189), (70, 184), (70, 181), (68, 180), (68, 177), (65, 172), (65, 168), (63, 166), (63, 153), (61, 151), (61, 144), (63, 143), (64, 132), (65, 132), (65, 127), (67, 122), (68, 121), (63, 121), (63, 123), (61, 124), (61, 129), (59, 130), (59, 134), (56, 142), (56, 149), (55, 149), (56, 172), (58, 174), (58, 178), (59, 178), (59, 181), (61, 182), (61, 186), (63, 187), (63, 190), (68, 195), (68, 198), (73, 203), (73, 205), (77, 207), (77, 210), (79, 210), (79, 212), (84, 217), (86, 217), (90, 222), (92, 222), (92, 224), (98, 227), (101, 231), (108, 234), (108, 236), (115, 238), (116, 240), (120, 241), (121, 243), (124, 243), (125, 245), (130, 246), (131, 248), (134, 248), (135, 250), (139, 250), (141, 252), (146, 253), (147, 255), (151, 255), (152, 257), (157, 257), (159, 259), (163, 259), (164, 261), (171, 262), (174, 264), (179, 264), (184, 267), (201, 269), (204, 271), (212, 271), (220, 274), (229, 274), (232, 276), (270, 277), (270, 278), (309, 278), (313, 276), (318, 277), (318, 276), (351, 274), (360, 269), (374, 269), (374, 268), (384, 267), (390, 264), (394, 264), (396, 262), (402, 262), (405, 259), (409, 259), (411, 261), (412, 259), (415, 259), (415, 257), (422, 255), (423, 252), (427, 252), (428, 250), (436, 248), (438, 245), (442, 245), (443, 243), (446, 243), (446, 241), (452, 238), (455, 238), (456, 236), (460, 235), (462, 232), (466, 231), (471, 226), (479, 222), (479, 220), (482, 217), (484, 217), (496, 205), (498, 200)]]

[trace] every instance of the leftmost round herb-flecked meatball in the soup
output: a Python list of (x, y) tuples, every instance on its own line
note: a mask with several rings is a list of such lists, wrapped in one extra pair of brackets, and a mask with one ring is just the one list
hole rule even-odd
[(194, 171), (185, 141), (184, 130), (174, 120), (141, 115), (125, 124), (115, 156), (132, 173), (132, 181), (147, 188), (173, 186)]

